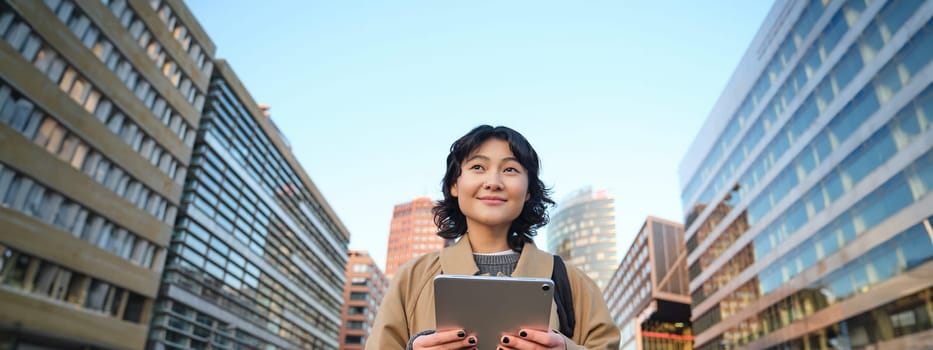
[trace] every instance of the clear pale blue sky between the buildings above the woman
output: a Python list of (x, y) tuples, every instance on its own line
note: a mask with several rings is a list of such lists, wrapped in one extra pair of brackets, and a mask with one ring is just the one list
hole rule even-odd
[(620, 256), (645, 216), (681, 221), (678, 165), (772, 4), (188, 6), (217, 57), (271, 106), (350, 248), (384, 267), (392, 207), (438, 198), (450, 144), (479, 124), (523, 133), (558, 201), (609, 189)]

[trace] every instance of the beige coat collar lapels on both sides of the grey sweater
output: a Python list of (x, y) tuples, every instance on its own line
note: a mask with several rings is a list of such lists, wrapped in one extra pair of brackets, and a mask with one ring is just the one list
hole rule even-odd
[[(460, 241), (441, 251), (441, 271), (448, 275), (475, 275), (479, 272), (473, 260), (470, 235), (464, 234)], [(550, 253), (538, 249), (534, 243), (525, 243), (522, 255), (515, 265), (515, 277), (550, 278), (554, 269), (554, 258)]]

